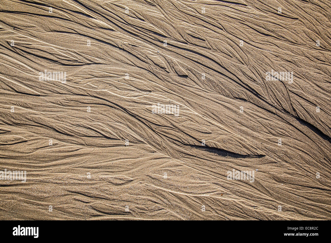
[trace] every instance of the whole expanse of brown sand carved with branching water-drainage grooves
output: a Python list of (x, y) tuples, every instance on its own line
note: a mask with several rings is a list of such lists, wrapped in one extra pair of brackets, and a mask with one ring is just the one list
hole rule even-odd
[(0, 219), (330, 219), (330, 30), (327, 0), (0, 0)]

